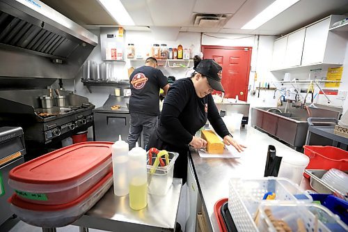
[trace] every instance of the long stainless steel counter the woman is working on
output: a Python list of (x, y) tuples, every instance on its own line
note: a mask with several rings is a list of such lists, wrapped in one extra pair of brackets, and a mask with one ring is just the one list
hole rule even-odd
[(209, 222), (207, 224), (210, 231), (219, 231), (214, 215), (214, 204), (219, 199), (228, 197), (230, 178), (263, 177), (269, 145), (276, 147), (276, 154), (294, 151), (250, 126), (246, 126), (240, 131), (237, 130), (233, 133), (233, 137), (247, 146), (241, 158), (202, 158), (198, 155), (197, 150), (190, 150), (190, 160), (193, 163), (203, 207), (208, 214)]

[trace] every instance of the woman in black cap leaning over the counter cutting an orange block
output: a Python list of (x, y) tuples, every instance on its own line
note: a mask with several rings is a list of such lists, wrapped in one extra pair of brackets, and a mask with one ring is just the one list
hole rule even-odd
[(203, 59), (192, 77), (179, 79), (169, 88), (164, 99), (159, 124), (152, 133), (148, 148), (179, 153), (175, 161), (174, 177), (187, 180), (187, 153), (189, 146), (204, 148), (207, 141), (195, 137), (207, 119), (226, 145), (239, 152), (245, 146), (238, 144), (228, 131), (212, 98), (212, 91), (223, 91), (222, 68), (212, 59)]

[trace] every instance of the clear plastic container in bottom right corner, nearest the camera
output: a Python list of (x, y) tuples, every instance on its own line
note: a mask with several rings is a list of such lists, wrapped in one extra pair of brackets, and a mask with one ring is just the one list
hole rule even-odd
[(258, 231), (277, 231), (269, 215), (273, 220), (285, 222), (292, 231), (348, 231), (338, 215), (318, 204), (262, 203), (256, 223)]

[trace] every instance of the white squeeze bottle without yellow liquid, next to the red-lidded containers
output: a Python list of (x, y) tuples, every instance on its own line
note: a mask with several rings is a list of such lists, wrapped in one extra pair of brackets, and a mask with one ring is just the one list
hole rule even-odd
[(119, 135), (118, 141), (112, 145), (113, 192), (116, 196), (125, 196), (129, 193), (128, 151), (128, 144)]

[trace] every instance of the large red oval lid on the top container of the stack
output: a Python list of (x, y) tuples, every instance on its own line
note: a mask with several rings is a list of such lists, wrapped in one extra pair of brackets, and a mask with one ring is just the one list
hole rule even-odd
[(22, 183), (57, 184), (77, 180), (111, 158), (112, 142), (84, 142), (54, 150), (9, 173)]

